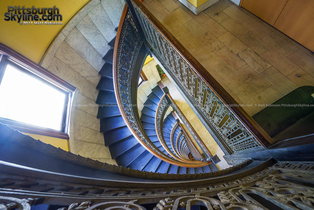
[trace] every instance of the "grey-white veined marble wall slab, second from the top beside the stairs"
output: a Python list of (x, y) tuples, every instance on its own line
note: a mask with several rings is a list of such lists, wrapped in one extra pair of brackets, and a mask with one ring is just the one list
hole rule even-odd
[(112, 24), (109, 16), (101, 4), (98, 4), (94, 9), (92, 9), (88, 13), (88, 16), (108, 42), (116, 37), (115, 26)]

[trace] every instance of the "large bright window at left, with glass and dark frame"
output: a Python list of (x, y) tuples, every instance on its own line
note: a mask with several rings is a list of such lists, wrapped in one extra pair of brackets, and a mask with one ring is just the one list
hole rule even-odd
[(20, 132), (69, 139), (75, 87), (0, 43), (0, 123)]

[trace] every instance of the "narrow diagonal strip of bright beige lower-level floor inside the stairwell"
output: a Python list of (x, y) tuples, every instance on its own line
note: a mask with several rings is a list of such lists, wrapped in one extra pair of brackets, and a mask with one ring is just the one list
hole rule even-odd
[(198, 119), (196, 114), (192, 111), (191, 107), (187, 104), (187, 102), (184, 100), (184, 98), (181, 96), (181, 94), (176, 89), (176, 87), (172, 84), (169, 78), (165, 77), (161, 80), (161, 82), (164, 86), (168, 87), (171, 97), (176, 102), (178, 107), (181, 109), (183, 114), (186, 116), (190, 124), (193, 126), (194, 130), (197, 131), (198, 135), (200, 136), (204, 144), (207, 146), (209, 151), (213, 155), (217, 154), (217, 156), (221, 160), (218, 164), (216, 164), (217, 168), (221, 170), (221, 169), (226, 169), (230, 167), (228, 163), (225, 161), (225, 159), (223, 158), (224, 152), (222, 152), (222, 150), (220, 149), (216, 141), (208, 133), (208, 131), (206, 130), (202, 122)]

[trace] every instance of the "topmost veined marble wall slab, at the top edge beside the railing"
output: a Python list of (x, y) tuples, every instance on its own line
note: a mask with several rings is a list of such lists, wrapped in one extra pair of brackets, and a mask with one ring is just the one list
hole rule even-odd
[(115, 28), (118, 27), (124, 4), (117, 0), (105, 0), (100, 3), (104, 7)]

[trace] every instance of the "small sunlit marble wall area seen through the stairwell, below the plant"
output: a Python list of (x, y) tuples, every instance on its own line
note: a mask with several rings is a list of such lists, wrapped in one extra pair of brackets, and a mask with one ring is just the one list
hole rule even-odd
[(152, 89), (157, 86), (157, 82), (159, 82), (160, 76), (156, 69), (157, 62), (153, 59), (149, 63), (143, 66), (142, 71), (147, 77), (147, 81), (143, 83), (142, 86), (138, 88), (137, 93), (137, 103), (138, 103), (138, 114), (141, 117), (142, 109), (144, 107), (144, 103), (147, 100), (147, 96), (152, 92)]

